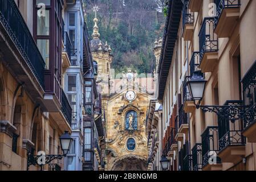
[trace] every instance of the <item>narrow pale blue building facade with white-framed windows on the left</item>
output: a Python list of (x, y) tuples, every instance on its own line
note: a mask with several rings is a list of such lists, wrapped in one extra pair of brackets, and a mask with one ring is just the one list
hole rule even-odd
[(70, 67), (64, 75), (68, 101), (72, 107), (72, 135), (74, 139), (72, 150), (66, 159), (66, 169), (82, 171), (83, 151), (83, 31), (84, 11), (83, 2), (74, 1), (68, 3), (64, 11), (64, 40), (70, 58)]

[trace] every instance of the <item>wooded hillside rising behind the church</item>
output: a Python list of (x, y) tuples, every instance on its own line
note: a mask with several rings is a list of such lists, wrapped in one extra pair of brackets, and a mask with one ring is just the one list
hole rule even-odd
[(113, 50), (112, 68), (116, 73), (127, 68), (138, 73), (152, 73), (155, 56), (154, 42), (164, 30), (165, 0), (84, 0), (87, 26), (92, 34), (94, 12), (97, 5), (100, 39)]

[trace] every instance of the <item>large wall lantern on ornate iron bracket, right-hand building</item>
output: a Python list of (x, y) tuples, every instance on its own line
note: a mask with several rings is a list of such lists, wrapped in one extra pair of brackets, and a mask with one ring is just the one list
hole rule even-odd
[(243, 104), (241, 101), (229, 101), (230, 104), (219, 105), (201, 105), (202, 98), (204, 97), (206, 80), (201, 71), (193, 73), (192, 77), (188, 81), (188, 88), (190, 96), (194, 101), (197, 109), (202, 109), (204, 112), (216, 113), (218, 116), (230, 121), (236, 121), (243, 118)]

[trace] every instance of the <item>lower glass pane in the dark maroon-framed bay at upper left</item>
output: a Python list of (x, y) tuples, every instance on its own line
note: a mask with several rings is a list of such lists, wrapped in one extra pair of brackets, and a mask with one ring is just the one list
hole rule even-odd
[(44, 62), (46, 63), (46, 69), (49, 69), (49, 40), (46, 39), (38, 39), (37, 46), (43, 57)]

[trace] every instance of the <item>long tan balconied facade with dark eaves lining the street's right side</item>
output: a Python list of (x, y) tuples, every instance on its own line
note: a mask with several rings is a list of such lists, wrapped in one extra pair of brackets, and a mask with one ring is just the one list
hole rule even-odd
[[(255, 7), (169, 1), (158, 69), (169, 170), (255, 170)], [(198, 74), (201, 103), (189, 91)]]

